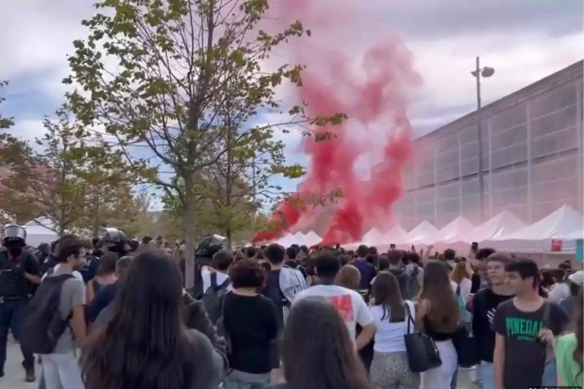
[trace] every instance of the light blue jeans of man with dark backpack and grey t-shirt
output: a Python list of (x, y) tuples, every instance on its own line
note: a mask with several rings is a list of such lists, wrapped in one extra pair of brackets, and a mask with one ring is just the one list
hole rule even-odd
[(81, 369), (74, 352), (68, 354), (43, 355), (43, 373), (41, 380), (46, 389), (84, 388)]

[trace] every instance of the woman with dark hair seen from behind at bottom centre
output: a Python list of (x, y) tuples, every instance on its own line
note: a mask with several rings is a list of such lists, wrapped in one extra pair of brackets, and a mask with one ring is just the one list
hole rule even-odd
[(284, 328), (283, 349), (286, 384), (276, 388), (371, 389), (343, 318), (322, 298), (294, 303)]

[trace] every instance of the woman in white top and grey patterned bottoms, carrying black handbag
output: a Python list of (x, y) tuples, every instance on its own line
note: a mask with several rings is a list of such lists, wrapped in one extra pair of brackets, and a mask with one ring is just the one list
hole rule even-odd
[(390, 272), (379, 272), (371, 289), (369, 309), (377, 327), (371, 384), (376, 389), (409, 389), (420, 385), (419, 374), (409, 370), (404, 335), (415, 330), (413, 302), (404, 301), (399, 282)]

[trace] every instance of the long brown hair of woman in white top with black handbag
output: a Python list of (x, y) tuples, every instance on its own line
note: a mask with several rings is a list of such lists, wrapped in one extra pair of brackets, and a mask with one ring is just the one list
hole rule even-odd
[(393, 274), (381, 271), (377, 274), (371, 287), (373, 305), (381, 306), (383, 315), (381, 320), (387, 318), (390, 323), (399, 323), (405, 320), (404, 300), (399, 292), (398, 279)]

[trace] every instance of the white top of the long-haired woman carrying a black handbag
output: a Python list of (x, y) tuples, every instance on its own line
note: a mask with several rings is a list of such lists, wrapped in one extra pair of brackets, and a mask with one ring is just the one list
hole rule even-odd
[[(412, 320), (415, 322), (415, 306), (411, 301), (405, 301), (405, 303), (408, 304)], [(370, 307), (369, 311), (377, 327), (373, 349), (377, 352), (405, 351), (404, 335), (408, 333), (408, 311), (406, 311), (405, 320), (399, 323), (390, 323), (389, 313), (386, 313), (383, 320), (381, 320), (383, 317), (383, 307), (381, 306)], [(415, 331), (412, 323), (409, 325), (409, 331), (410, 333)]]

